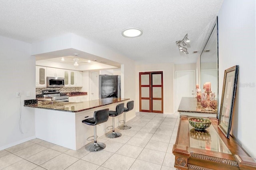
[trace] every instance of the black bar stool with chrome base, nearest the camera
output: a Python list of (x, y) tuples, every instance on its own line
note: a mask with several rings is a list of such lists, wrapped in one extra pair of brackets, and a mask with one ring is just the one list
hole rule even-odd
[[(85, 149), (90, 151), (90, 152), (98, 152), (106, 147), (105, 143), (98, 142), (97, 143), (97, 128), (96, 125), (100, 123), (104, 123), (108, 121), (108, 111), (109, 109), (102, 109), (102, 110), (97, 110), (94, 111), (94, 117), (89, 118), (89, 119), (84, 119), (82, 122), (85, 123), (86, 125), (93, 125), (94, 128), (94, 143), (89, 143), (88, 145), (85, 146)], [(90, 137), (87, 138), (87, 141), (92, 141), (89, 140)]]

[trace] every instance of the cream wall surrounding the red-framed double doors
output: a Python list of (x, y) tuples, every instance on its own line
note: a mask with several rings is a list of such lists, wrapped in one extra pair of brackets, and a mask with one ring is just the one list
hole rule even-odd
[(140, 111), (139, 72), (163, 71), (164, 113), (174, 113), (174, 64), (136, 65), (136, 111)]

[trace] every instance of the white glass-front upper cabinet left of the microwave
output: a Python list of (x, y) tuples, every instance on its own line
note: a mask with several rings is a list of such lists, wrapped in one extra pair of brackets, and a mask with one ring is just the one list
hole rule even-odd
[(36, 66), (36, 87), (46, 87), (46, 67)]

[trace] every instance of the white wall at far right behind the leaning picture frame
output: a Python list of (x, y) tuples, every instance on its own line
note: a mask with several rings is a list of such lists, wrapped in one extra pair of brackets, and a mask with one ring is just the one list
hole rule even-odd
[[(219, 92), (224, 70), (239, 65), (238, 84), (256, 83), (255, 0), (224, 0), (218, 14)], [(221, 97), (221, 96), (220, 96)], [(256, 88), (236, 89), (232, 135), (256, 158)]]

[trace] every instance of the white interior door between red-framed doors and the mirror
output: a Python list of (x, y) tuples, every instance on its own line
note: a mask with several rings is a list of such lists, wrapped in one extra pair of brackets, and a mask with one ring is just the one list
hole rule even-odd
[(182, 97), (195, 97), (195, 70), (175, 71), (175, 111), (178, 110)]

